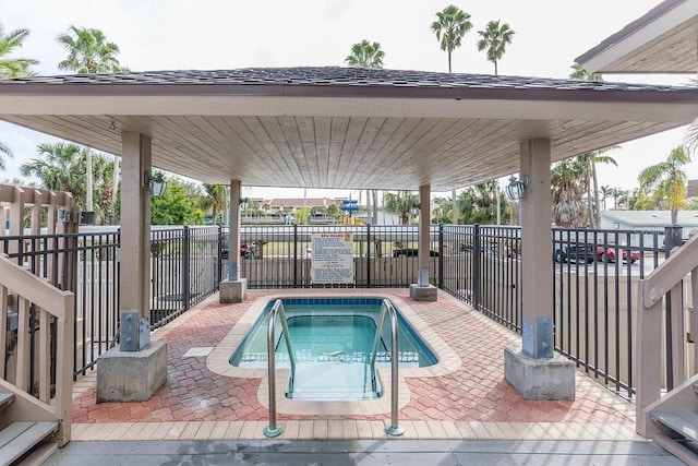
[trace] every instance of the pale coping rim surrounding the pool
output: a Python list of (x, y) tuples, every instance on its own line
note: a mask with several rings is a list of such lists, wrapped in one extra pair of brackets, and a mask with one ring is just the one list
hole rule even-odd
[[(376, 292), (373, 290), (366, 290), (365, 292), (358, 294), (352, 289), (351, 294), (347, 298), (357, 298), (359, 296), (363, 298), (380, 298), (389, 299), (405, 320), (412, 326), (412, 328), (420, 334), (422, 340), (429, 346), (433, 354), (438, 359), (433, 366), (425, 368), (404, 368), (398, 372), (398, 408), (407, 406), (410, 402), (411, 393), (407, 384), (408, 378), (428, 378), (440, 377), (447, 373), (452, 373), (458, 370), (462, 361), (460, 357), (454, 351), (450, 346), (438, 336), (436, 332), (424, 322), (421, 316), (410, 307), (410, 304), (404, 299), (389, 294)], [(279, 298), (308, 298), (308, 290), (289, 290), (275, 295), (267, 295), (254, 300), (244, 314), (236, 322), (230, 332), (218, 343), (216, 347), (210, 351), (206, 358), (206, 367), (214, 373), (224, 377), (231, 378), (249, 378), (249, 379), (262, 379), (260, 389), (257, 391), (257, 401), (262, 406), (268, 409), (269, 407), (269, 391), (268, 391), (268, 371), (266, 368), (251, 369), (239, 368), (231, 366), (229, 360), (230, 356), (242, 343), (242, 339), (252, 328), (252, 325), (256, 321), (260, 313), (264, 310), (266, 304), (270, 300)], [(313, 297), (317, 298), (342, 298), (336, 292), (313, 292)], [(286, 396), (278, 395), (286, 393), (286, 383), (288, 380), (288, 369), (277, 369), (276, 377), (276, 409), (279, 414), (284, 415), (378, 415), (390, 413), (390, 392), (392, 392), (392, 377), (389, 368), (378, 368), (378, 380), (383, 386), (383, 396), (374, 399), (357, 399), (357, 401), (300, 401), (289, 399)]]

